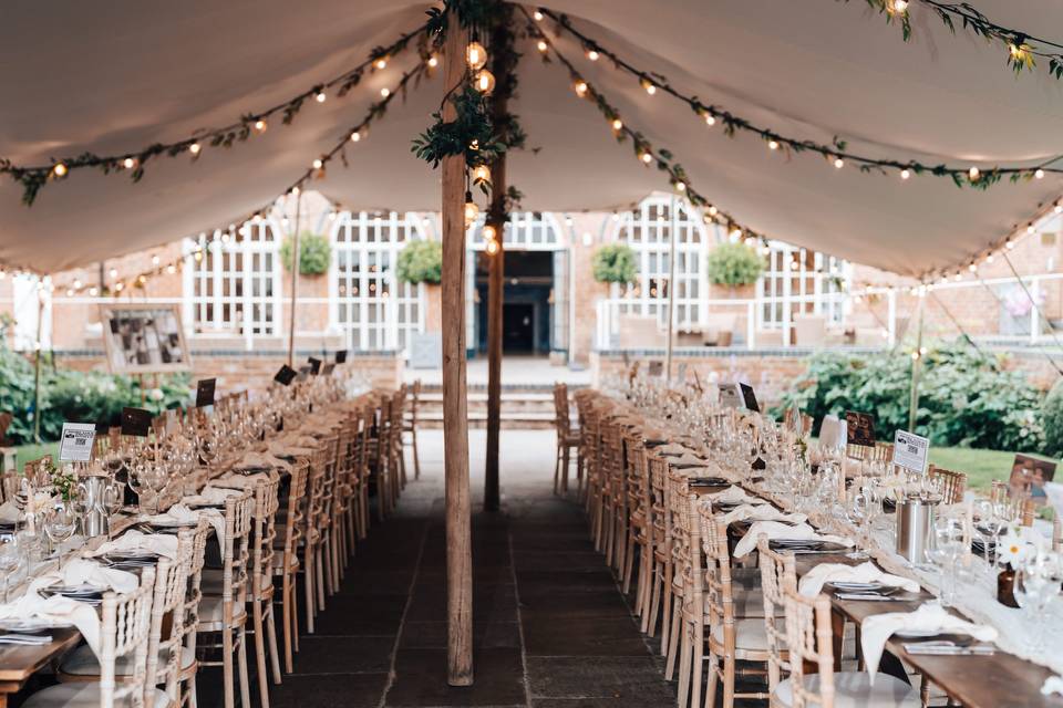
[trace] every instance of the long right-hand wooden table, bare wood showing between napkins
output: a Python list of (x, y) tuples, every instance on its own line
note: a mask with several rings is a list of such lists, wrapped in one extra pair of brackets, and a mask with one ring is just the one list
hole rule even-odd
[[(725, 487), (712, 485), (691, 486), (695, 494), (708, 494), (721, 491)], [(866, 559), (855, 560), (845, 553), (838, 554), (796, 554), (797, 576), (806, 574), (822, 563), (843, 563), (857, 565)], [(845, 622), (852, 622), (859, 627), (868, 617), (892, 613), (914, 612), (933, 595), (927, 591), (919, 593), (904, 593), (902, 600), (892, 602), (838, 600), (830, 595), (834, 615), (835, 644), (834, 653), (836, 668), (840, 663), (840, 642)], [(1063, 697), (1042, 696), (1041, 686), (1050, 676), (1051, 669), (1028, 662), (1000, 648), (991, 655), (911, 655), (905, 652), (904, 645), (911, 643), (900, 637), (890, 637), (886, 642), (886, 650), (902, 659), (914, 669), (929, 678), (938, 688), (969, 708), (1003, 708), (1005, 706), (1022, 706), (1023, 708), (1061, 708)]]

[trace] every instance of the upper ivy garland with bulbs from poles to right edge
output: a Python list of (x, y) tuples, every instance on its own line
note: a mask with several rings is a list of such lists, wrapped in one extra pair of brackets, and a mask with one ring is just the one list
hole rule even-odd
[[(848, 1), (848, 0), (846, 0)], [(888, 0), (867, 0), (871, 4), (883, 4)], [(908, 179), (914, 175), (931, 175), (935, 177), (947, 177), (952, 179), (957, 187), (973, 187), (976, 189), (987, 189), (998, 184), (1004, 176), (1008, 176), (1012, 183), (1029, 181), (1040, 179), (1045, 174), (1063, 174), (1063, 169), (1049, 167), (1049, 164), (1055, 158), (1032, 167), (989, 167), (984, 169), (972, 167), (954, 167), (945, 164), (928, 165), (916, 160), (896, 160), (879, 159), (866, 157), (849, 153), (847, 143), (835, 137), (829, 145), (816, 143), (814, 140), (804, 140), (781, 135), (771, 128), (758, 126), (742, 116), (735, 115), (726, 108), (703, 103), (698, 96), (682, 93), (672, 86), (668, 79), (657, 72), (648, 72), (636, 67), (628, 61), (620, 58), (616, 52), (602, 46), (598, 41), (588, 37), (586, 33), (577, 30), (568, 15), (559, 14), (546, 8), (539, 8), (538, 12), (550, 18), (558, 33), (566, 32), (575, 38), (584, 48), (584, 51), (597, 59), (597, 55), (608, 58), (613, 66), (620, 71), (629, 73), (638, 79), (640, 85), (650, 93), (662, 91), (665, 94), (678, 98), (690, 106), (698, 116), (709, 125), (722, 124), (723, 132), (727, 137), (734, 137), (737, 132), (750, 133), (760, 137), (772, 150), (781, 150), (787, 155), (791, 153), (818, 153), (828, 164), (840, 168), (849, 162), (857, 166), (861, 173), (879, 173), (883, 175), (890, 171), (897, 171), (902, 179)], [(546, 46), (545, 40), (540, 43), (540, 51)], [(556, 52), (556, 49), (555, 49)]]

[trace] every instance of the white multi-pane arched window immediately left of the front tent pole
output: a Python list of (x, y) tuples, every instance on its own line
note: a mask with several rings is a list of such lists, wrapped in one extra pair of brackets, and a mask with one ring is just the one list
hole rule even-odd
[(351, 348), (405, 352), (424, 326), (424, 285), (395, 277), (400, 251), (424, 238), (416, 214), (343, 212), (336, 219), (329, 319)]

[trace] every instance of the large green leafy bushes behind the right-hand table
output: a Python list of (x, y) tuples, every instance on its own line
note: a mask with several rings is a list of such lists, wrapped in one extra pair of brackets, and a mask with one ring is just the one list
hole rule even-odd
[[(915, 433), (936, 446), (1045, 451), (1041, 392), (1022, 372), (1000, 364), (959, 340), (928, 352)], [(772, 413), (782, 416), (796, 403), (818, 426), (827, 414), (865, 410), (875, 415), (878, 437), (891, 440), (895, 430), (908, 427), (910, 384), (908, 356), (824, 352), (812, 357)]]

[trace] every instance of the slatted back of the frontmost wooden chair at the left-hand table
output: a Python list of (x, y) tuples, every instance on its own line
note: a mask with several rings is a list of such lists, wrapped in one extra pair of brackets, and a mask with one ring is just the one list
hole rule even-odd
[[(155, 686), (147, 683), (147, 643), (152, 626), (152, 595), (155, 592), (155, 569), (145, 568), (141, 585), (131, 593), (105, 593), (100, 622), (100, 707), (115, 705), (141, 708), (144, 696)], [(115, 679), (118, 659), (128, 667), (122, 687)]]

